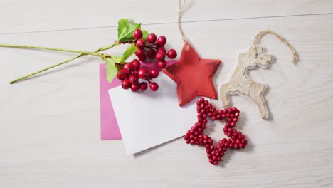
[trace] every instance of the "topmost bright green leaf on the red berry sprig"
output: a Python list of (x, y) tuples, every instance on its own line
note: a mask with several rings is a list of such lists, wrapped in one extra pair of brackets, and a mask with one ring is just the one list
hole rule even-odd
[(120, 19), (118, 21), (118, 41), (130, 41), (133, 31), (137, 28), (141, 28), (140, 23), (130, 23), (129, 19)]

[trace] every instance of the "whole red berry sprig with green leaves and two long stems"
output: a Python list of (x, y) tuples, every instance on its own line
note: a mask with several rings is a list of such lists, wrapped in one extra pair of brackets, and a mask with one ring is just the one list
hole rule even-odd
[[(100, 51), (105, 51), (107, 49), (113, 48), (120, 44), (131, 44), (127, 50), (122, 53), (122, 56), (110, 56), (108, 54), (100, 53)], [(57, 63), (56, 65), (50, 66), (48, 68), (43, 68), (40, 71), (36, 71), (35, 73), (31, 73), (25, 75), (16, 80), (12, 80), (9, 83), (16, 83), (20, 80), (24, 80), (26, 78), (31, 77), (32, 75), (36, 75), (38, 73), (42, 73), (43, 71), (47, 71), (48, 69), (54, 68), (56, 66), (63, 65), (64, 63), (68, 63), (70, 61), (75, 60), (76, 58), (80, 58), (82, 56), (91, 55), (101, 57), (106, 63), (107, 69), (107, 80), (111, 83), (113, 78), (117, 76), (118, 79), (122, 80), (122, 88), (137, 91), (137, 90), (147, 90), (147, 83), (139, 82), (139, 79), (147, 80), (149, 83), (149, 88), (153, 91), (158, 90), (159, 85), (157, 83), (151, 82), (152, 78), (157, 78), (159, 75), (159, 71), (157, 69), (147, 70), (144, 68), (140, 68), (140, 62), (146, 63), (147, 57), (154, 60), (155, 58), (159, 61), (157, 66), (159, 68), (165, 68), (166, 56), (169, 58), (176, 58), (177, 53), (174, 49), (170, 49), (166, 53), (166, 49), (164, 45), (166, 44), (165, 36), (157, 36), (154, 33), (148, 33), (147, 31), (141, 29), (141, 24), (132, 23), (129, 19), (120, 19), (118, 21), (118, 39), (109, 46), (104, 46), (102, 48), (98, 48), (96, 51), (76, 51), (70, 49), (63, 48), (49, 48), (43, 46), (23, 46), (23, 45), (11, 45), (11, 44), (0, 44), (0, 47), (8, 47), (8, 48), (35, 48), (35, 49), (43, 49), (50, 51), (66, 51), (71, 53), (80, 53), (80, 55), (75, 56), (74, 58), (70, 58), (66, 61)], [(126, 63), (127, 58), (132, 56), (132, 54), (139, 58), (139, 61), (134, 59), (130, 63)]]

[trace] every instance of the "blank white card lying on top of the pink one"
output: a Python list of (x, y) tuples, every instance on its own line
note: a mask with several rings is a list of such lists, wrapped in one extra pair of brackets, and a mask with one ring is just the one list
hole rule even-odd
[(127, 154), (181, 137), (198, 120), (199, 97), (179, 107), (176, 83), (162, 72), (154, 81), (159, 84), (155, 92), (134, 93), (121, 86), (109, 90)]

